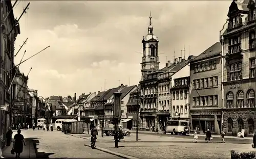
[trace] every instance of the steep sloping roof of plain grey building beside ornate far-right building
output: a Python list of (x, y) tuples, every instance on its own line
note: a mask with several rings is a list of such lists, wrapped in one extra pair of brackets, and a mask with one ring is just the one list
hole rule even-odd
[(201, 53), (199, 56), (192, 59), (190, 62), (195, 62), (198, 60), (203, 60), (205, 58), (210, 58), (215, 55), (220, 55), (220, 53), (221, 53), (221, 43), (216, 42), (214, 45), (207, 48), (205, 51), (203, 51), (203, 53)]

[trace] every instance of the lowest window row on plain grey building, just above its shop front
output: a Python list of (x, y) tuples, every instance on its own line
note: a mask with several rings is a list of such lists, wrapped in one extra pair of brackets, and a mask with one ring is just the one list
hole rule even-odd
[(218, 95), (193, 97), (193, 106), (218, 105)]

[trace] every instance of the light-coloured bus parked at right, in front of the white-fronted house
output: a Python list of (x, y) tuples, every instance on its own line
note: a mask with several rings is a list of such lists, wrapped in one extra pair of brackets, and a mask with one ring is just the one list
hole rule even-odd
[(166, 124), (166, 133), (176, 134), (189, 134), (189, 122), (186, 120), (169, 120)]

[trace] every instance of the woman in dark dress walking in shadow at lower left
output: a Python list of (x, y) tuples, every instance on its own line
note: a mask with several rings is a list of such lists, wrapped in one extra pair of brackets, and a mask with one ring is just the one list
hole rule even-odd
[(23, 144), (24, 146), (26, 146), (25, 144), (25, 141), (24, 141), (24, 136), (21, 135), (22, 131), (20, 129), (17, 130), (17, 133), (15, 136), (14, 136), (14, 142), (13, 142), (13, 149), (14, 149), (14, 152), (16, 153), (16, 158), (20, 158), (20, 153), (23, 152)]

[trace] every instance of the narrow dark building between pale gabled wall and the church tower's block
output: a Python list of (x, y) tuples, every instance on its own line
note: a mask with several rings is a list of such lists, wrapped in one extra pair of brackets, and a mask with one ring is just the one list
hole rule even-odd
[(139, 112), (140, 112), (140, 86), (130, 93), (129, 101), (126, 104), (127, 118), (132, 119), (132, 128), (136, 128), (139, 125)]

